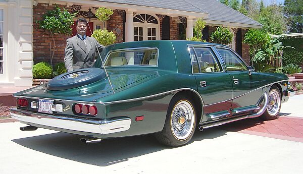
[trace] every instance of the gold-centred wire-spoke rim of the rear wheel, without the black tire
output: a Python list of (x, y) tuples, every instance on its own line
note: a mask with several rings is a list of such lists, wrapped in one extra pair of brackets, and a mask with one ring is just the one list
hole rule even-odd
[(186, 101), (179, 101), (171, 113), (171, 130), (179, 140), (187, 139), (194, 126), (194, 110), (192, 105)]

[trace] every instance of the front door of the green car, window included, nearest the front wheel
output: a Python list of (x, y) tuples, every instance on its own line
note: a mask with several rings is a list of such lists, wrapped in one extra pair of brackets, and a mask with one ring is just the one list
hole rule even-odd
[(249, 75), (245, 63), (231, 49), (220, 47), (217, 50), (233, 81), (232, 109), (254, 107), (262, 96), (259, 73)]

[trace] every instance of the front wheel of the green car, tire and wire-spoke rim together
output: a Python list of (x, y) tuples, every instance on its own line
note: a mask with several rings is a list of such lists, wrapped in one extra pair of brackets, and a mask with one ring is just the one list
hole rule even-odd
[(272, 87), (268, 94), (267, 108), (260, 117), (263, 120), (274, 120), (281, 109), (281, 93), (277, 87)]

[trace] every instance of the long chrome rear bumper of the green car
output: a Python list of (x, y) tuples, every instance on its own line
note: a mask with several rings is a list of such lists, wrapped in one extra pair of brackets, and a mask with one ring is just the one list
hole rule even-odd
[(97, 134), (110, 134), (127, 131), (131, 124), (131, 119), (127, 117), (96, 121), (59, 117), (55, 115), (19, 110), (17, 108), (11, 108), (11, 115), (12, 118), (17, 119), (20, 122), (26, 122), (29, 125), (32, 123), (36, 125)]

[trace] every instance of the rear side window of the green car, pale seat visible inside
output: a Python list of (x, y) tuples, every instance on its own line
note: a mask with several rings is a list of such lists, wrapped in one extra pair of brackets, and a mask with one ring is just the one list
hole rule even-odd
[[(193, 73), (213, 73), (221, 71), (218, 61), (210, 47), (191, 47), (190, 55)], [(199, 65), (197, 63), (199, 63)]]

